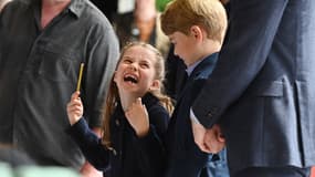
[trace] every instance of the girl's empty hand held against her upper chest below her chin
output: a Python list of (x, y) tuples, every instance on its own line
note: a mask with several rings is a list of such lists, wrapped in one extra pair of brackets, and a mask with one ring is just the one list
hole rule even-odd
[(141, 103), (141, 98), (137, 98), (135, 103), (125, 112), (125, 115), (136, 131), (138, 137), (147, 135), (149, 132), (149, 116), (145, 105)]

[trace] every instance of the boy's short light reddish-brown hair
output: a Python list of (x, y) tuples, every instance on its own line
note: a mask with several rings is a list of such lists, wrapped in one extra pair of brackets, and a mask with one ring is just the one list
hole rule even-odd
[(166, 35), (182, 32), (189, 35), (190, 28), (202, 28), (208, 38), (222, 43), (227, 27), (227, 12), (219, 0), (172, 0), (160, 17)]

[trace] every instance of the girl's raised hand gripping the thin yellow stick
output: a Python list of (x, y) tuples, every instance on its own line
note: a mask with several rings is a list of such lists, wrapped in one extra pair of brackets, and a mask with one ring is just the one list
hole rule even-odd
[(74, 92), (66, 105), (67, 118), (71, 125), (75, 124), (83, 116), (83, 104), (78, 96), (80, 92)]

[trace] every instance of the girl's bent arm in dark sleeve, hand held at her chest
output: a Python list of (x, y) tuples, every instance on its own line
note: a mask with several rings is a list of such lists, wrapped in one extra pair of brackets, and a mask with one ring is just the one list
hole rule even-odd
[[(136, 105), (135, 105), (136, 106)], [(143, 105), (141, 105), (143, 106)], [(161, 111), (161, 107), (151, 108), (149, 111), (149, 122), (148, 117), (140, 118), (141, 114), (139, 114), (139, 110), (134, 107), (135, 110), (128, 111), (126, 116), (128, 117), (129, 123), (134, 127), (136, 132), (137, 138), (135, 138), (135, 144), (138, 145), (137, 154), (138, 160), (141, 170), (146, 176), (158, 177), (162, 175), (164, 165), (166, 159), (166, 152), (165, 146), (162, 143), (162, 136), (166, 133), (167, 123), (169, 119), (169, 115), (166, 111)], [(139, 108), (139, 107), (138, 107)], [(134, 115), (132, 115), (134, 114)], [(132, 116), (134, 117), (130, 121)], [(146, 128), (136, 128), (135, 122), (136, 119), (145, 119), (147, 126)], [(137, 121), (138, 122), (138, 121)], [(140, 123), (140, 122), (138, 122)], [(143, 125), (138, 124), (137, 127), (144, 127)], [(145, 129), (145, 131), (138, 131)]]

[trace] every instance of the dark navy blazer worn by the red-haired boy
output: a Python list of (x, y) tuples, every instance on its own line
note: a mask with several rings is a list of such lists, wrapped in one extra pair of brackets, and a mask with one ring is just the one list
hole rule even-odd
[[(189, 117), (189, 108), (202, 88), (208, 76), (211, 74), (218, 59), (218, 53), (209, 55), (201, 61), (192, 71), (187, 82), (179, 93), (175, 112), (170, 118), (170, 123), (166, 136), (166, 145), (168, 153), (168, 165), (166, 177), (210, 177), (212, 154), (202, 153), (196, 145), (192, 136), (191, 122)], [(224, 154), (222, 154), (224, 155)], [(221, 163), (223, 174), (216, 177), (228, 175), (225, 158), (218, 158), (217, 163)], [(213, 158), (213, 160), (214, 160)], [(216, 170), (216, 169), (214, 169)]]

